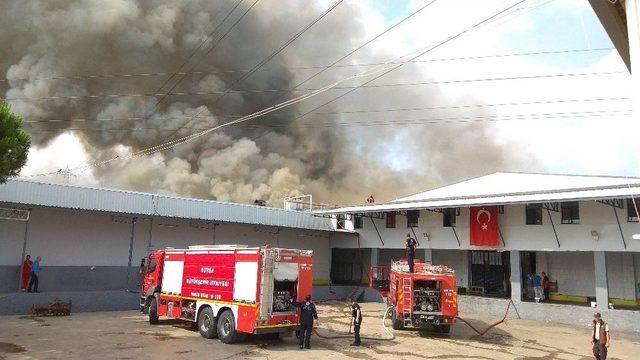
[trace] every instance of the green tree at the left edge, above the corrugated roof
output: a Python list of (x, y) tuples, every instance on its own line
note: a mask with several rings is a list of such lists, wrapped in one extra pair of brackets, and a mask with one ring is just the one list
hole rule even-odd
[(22, 130), (22, 118), (0, 101), (0, 184), (16, 176), (27, 162), (31, 137)]

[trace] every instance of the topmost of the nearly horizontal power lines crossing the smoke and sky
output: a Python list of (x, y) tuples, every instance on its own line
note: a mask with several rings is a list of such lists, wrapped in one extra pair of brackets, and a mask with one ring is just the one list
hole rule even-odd
[[(585, 52), (599, 52), (599, 51), (611, 51), (615, 50), (612, 47), (602, 47), (593, 49), (567, 49), (567, 50), (548, 50), (548, 51), (529, 51), (529, 52), (517, 52), (517, 53), (505, 53), (505, 54), (487, 54), (487, 55), (472, 55), (472, 56), (457, 56), (457, 57), (442, 57), (435, 59), (413, 60), (410, 64), (420, 63), (432, 63), (432, 62), (446, 62), (446, 61), (461, 61), (461, 60), (482, 60), (482, 59), (494, 59), (494, 58), (506, 58), (506, 57), (520, 57), (520, 56), (537, 56), (537, 55), (559, 55), (559, 54), (572, 54), (572, 53), (585, 53)], [(309, 66), (290, 66), (283, 67), (285, 70), (298, 71), (298, 70), (317, 70), (317, 69), (330, 69), (330, 68), (351, 68), (351, 67), (364, 67), (364, 66), (377, 66), (383, 65), (384, 62), (365, 62), (365, 63), (349, 63), (342, 65), (309, 65)], [(141, 72), (141, 73), (119, 73), (119, 74), (90, 74), (90, 75), (54, 75), (43, 76), (35, 78), (14, 78), (12, 80), (83, 80), (83, 79), (119, 79), (119, 78), (139, 78), (139, 77), (162, 77), (172, 74), (176, 75), (220, 75), (220, 74), (233, 74), (239, 72), (249, 72), (250, 69), (239, 70), (219, 70), (219, 71), (187, 71), (187, 72)], [(259, 69), (258, 71), (271, 71), (270, 69)], [(0, 79), (0, 83), (8, 82), (8, 79)]]

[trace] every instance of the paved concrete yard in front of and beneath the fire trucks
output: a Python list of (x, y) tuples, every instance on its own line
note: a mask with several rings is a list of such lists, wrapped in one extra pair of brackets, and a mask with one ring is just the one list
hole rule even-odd
[[(0, 317), (0, 359), (591, 359), (588, 328), (510, 320), (483, 338), (464, 324), (450, 335), (396, 332), (396, 339), (381, 327), (382, 304), (363, 304), (362, 348), (349, 347), (351, 339), (312, 339), (311, 350), (299, 350), (294, 338), (266, 341), (250, 339), (237, 345), (206, 340), (197, 331), (176, 322), (151, 326), (134, 311), (79, 313), (70, 317)], [(323, 336), (337, 336), (349, 327), (342, 304), (319, 306)], [(464, 314), (482, 328), (497, 319)], [(615, 331), (615, 329), (613, 329)], [(638, 359), (640, 337), (613, 333), (609, 359)]]

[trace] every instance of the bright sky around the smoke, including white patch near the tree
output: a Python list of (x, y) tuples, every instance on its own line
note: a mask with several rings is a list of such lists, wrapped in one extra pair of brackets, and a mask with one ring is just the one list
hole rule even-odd
[[(394, 24), (417, 8), (425, 0), (370, 0), (347, 1), (356, 9), (354, 21), (362, 24), (363, 38), (372, 37)], [(489, 16), (515, 1), (455, 0), (437, 1), (411, 21), (381, 37), (370, 46), (370, 51), (350, 57), (351, 63), (387, 61), (435, 44), (468, 29), (483, 17)], [(314, 6), (326, 8), (332, 1), (318, 1)], [(483, 104), (498, 118), (513, 121), (495, 121), (488, 124), (489, 141), (504, 144), (504, 150), (515, 157), (531, 159), (537, 165), (532, 172), (584, 175), (640, 175), (640, 144), (636, 141), (637, 121), (632, 120), (629, 109), (632, 96), (631, 77), (607, 37), (604, 29), (586, 0), (530, 0), (519, 6), (514, 16), (505, 16), (485, 26), (465, 33), (437, 49), (428, 52), (415, 64), (407, 64), (393, 74), (376, 80), (436, 81), (445, 100), (439, 106), (468, 106)], [(521, 54), (580, 50), (561, 54), (538, 54), (495, 57), (499, 54)], [(585, 50), (585, 51), (583, 51)], [(293, 52), (293, 50), (291, 50)], [(372, 56), (374, 54), (375, 56)], [(377, 56), (377, 57), (376, 57)], [(491, 56), (468, 59), (469, 57)], [(451, 59), (454, 58), (454, 59)], [(465, 58), (465, 59), (455, 59)], [(438, 59), (451, 59), (441, 61)], [(300, 64), (304, 65), (304, 64)], [(602, 73), (590, 76), (557, 76), (561, 74)], [(335, 76), (335, 75), (333, 75)], [(470, 79), (512, 78), (538, 76), (533, 79), (468, 81)], [(329, 77), (318, 77), (310, 85), (321, 86)], [(465, 80), (459, 82), (458, 80)], [(428, 87), (427, 85), (426, 87)], [(422, 91), (422, 88), (414, 90)], [(357, 98), (346, 97), (341, 106), (368, 103), (368, 94), (375, 89), (358, 90)], [(427, 90), (425, 90), (427, 91)], [(372, 97), (373, 98), (373, 97)], [(590, 99), (591, 101), (571, 101)], [(608, 100), (601, 100), (608, 99)], [(562, 103), (549, 103), (563, 100)], [(521, 104), (527, 102), (529, 104)], [(536, 102), (531, 104), (531, 102)], [(516, 103), (516, 104), (514, 104)], [(402, 107), (402, 101), (397, 101)], [(356, 105), (352, 106), (354, 109)], [(558, 115), (560, 113), (561, 115)], [(533, 116), (522, 116), (533, 114)], [(551, 115), (549, 115), (551, 114)], [(554, 115), (555, 114), (555, 115)], [(585, 116), (592, 114), (597, 116)], [(366, 119), (375, 120), (375, 114)], [(394, 115), (398, 118), (463, 118), (474, 116), (465, 109), (428, 110)], [(358, 157), (376, 156), (392, 169), (409, 175), (425, 175), (414, 161), (421, 150), (422, 132), (418, 126), (385, 128), (384, 136), (375, 136), (379, 128), (350, 127), (344, 131), (358, 147), (355, 153), (345, 154), (353, 161)], [(459, 124), (432, 124), (449, 127), (449, 131), (464, 130)], [(468, 134), (467, 134), (468, 135)], [(373, 139), (373, 140), (372, 140)], [(425, 141), (434, 141), (425, 139)], [(372, 147), (372, 142), (378, 142)], [(425, 144), (428, 145), (428, 144)], [(453, 148), (468, 146), (464, 141), (449, 141), (438, 145), (438, 153), (431, 157), (444, 157)], [(485, 151), (482, 142), (474, 142), (470, 152)], [(66, 132), (46, 146), (31, 149), (28, 164), (22, 174), (29, 176), (42, 171), (73, 168), (91, 161), (86, 144), (73, 133)], [(125, 151), (124, 149), (123, 151)], [(60, 156), (65, 154), (65, 156)], [(162, 161), (161, 159), (158, 161)], [(451, 159), (454, 166), (464, 167), (464, 159)], [(511, 170), (511, 169), (495, 169)], [(528, 170), (528, 169), (525, 169)], [(97, 183), (91, 173), (78, 174), (83, 183)], [(441, 179), (451, 181), (450, 178)], [(437, 179), (435, 181), (438, 182)], [(402, 195), (402, 194), (398, 194)]]

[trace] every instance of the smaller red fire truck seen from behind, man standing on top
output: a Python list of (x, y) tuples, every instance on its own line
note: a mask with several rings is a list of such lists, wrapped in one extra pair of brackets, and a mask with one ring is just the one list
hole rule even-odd
[(406, 260), (391, 267), (375, 266), (369, 272), (369, 286), (386, 297), (393, 307), (393, 328), (435, 328), (448, 333), (458, 316), (458, 292), (452, 269), (416, 261), (409, 272)]

